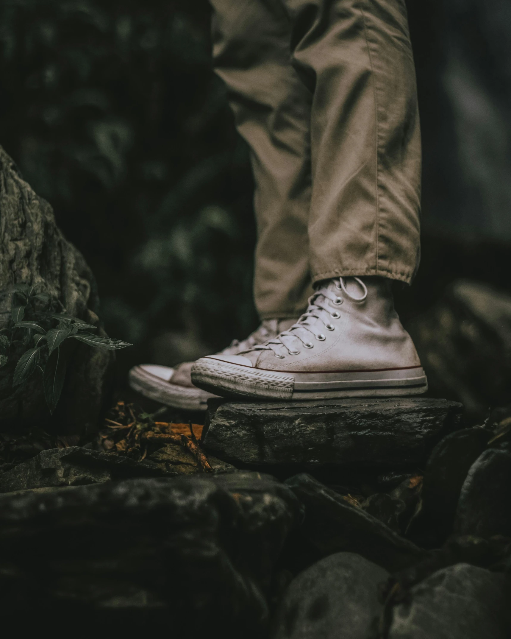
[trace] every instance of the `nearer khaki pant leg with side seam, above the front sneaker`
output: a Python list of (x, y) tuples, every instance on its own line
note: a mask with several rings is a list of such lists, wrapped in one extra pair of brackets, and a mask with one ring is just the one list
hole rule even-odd
[(314, 98), (310, 268), (410, 282), (420, 255), (420, 128), (404, 0), (283, 0)]

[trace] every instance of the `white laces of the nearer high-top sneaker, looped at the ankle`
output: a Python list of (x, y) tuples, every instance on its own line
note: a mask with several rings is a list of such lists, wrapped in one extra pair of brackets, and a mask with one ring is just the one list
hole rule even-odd
[[(344, 277), (339, 277), (339, 280), (335, 279), (335, 288), (339, 291), (342, 290), (344, 295), (349, 297), (349, 299), (353, 302), (363, 302), (367, 298), (367, 286), (365, 286), (363, 281), (358, 277), (354, 277), (353, 279), (362, 286), (362, 297), (353, 297), (353, 295), (348, 293)], [(281, 351), (282, 347), (284, 347), (289, 355), (298, 355), (300, 351), (293, 347), (292, 341), (294, 339), (299, 339), (304, 348), (314, 348), (314, 343), (310, 341), (309, 334), (314, 335), (314, 337), (320, 342), (323, 342), (326, 339), (323, 333), (319, 333), (315, 330), (317, 320), (319, 319), (327, 330), (334, 330), (335, 327), (333, 327), (332, 323), (330, 323), (330, 318), (339, 319), (340, 313), (335, 310), (332, 312), (332, 308), (340, 306), (343, 301), (342, 297), (335, 295), (335, 293), (330, 291), (329, 288), (324, 287), (319, 289), (319, 291), (316, 291), (314, 295), (310, 296), (307, 311), (303, 313), (296, 324), (293, 324), (289, 330), (285, 330), (275, 337), (275, 339), (270, 339), (264, 344), (255, 344), (254, 346), (245, 349), (245, 351), (241, 351), (241, 353), (249, 350), (271, 350), (275, 354), (275, 357), (282, 359), (284, 358), (284, 355), (281, 355), (278, 351)]]

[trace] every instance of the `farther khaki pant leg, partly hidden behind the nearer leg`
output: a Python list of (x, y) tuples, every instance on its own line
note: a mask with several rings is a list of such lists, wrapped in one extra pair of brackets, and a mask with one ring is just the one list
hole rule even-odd
[(262, 319), (301, 314), (312, 293), (310, 102), (291, 66), (280, 0), (211, 0), (213, 61), (250, 146), (257, 220), (255, 306)]

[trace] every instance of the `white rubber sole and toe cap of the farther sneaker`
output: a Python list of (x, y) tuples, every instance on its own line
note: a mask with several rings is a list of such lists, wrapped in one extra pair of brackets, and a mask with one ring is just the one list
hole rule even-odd
[(128, 376), (130, 387), (144, 397), (154, 399), (160, 404), (183, 410), (206, 410), (208, 399), (218, 397), (195, 387), (179, 386), (162, 380), (156, 375), (135, 366)]

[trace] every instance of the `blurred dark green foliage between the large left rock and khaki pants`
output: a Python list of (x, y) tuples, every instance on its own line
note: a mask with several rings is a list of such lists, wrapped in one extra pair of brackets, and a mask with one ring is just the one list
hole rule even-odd
[(209, 23), (206, 0), (0, 3), (0, 141), (128, 341), (254, 325), (252, 178)]

